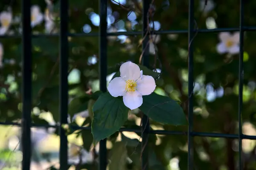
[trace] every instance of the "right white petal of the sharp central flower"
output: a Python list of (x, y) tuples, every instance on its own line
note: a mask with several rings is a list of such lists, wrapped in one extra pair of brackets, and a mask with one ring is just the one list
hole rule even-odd
[(137, 81), (137, 91), (140, 92), (141, 95), (150, 95), (154, 92), (156, 88), (156, 83), (154, 78), (150, 75), (143, 75), (140, 80)]

